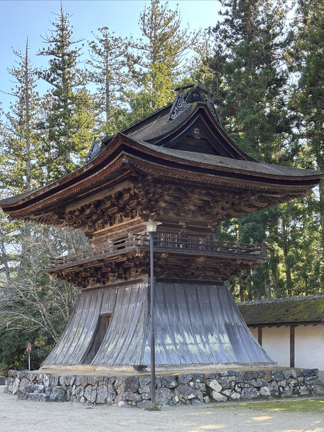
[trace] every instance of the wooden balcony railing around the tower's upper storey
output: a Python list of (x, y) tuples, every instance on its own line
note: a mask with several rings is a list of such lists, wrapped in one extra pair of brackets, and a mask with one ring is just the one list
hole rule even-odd
[[(196, 236), (195, 236), (196, 237)], [(149, 248), (149, 235), (148, 234), (133, 234), (132, 237), (119, 239), (112, 244), (99, 245), (95, 248), (89, 248), (84, 251), (72, 253), (54, 258), (51, 260), (53, 266), (72, 263), (89, 258), (96, 258), (102, 255), (113, 253), (116, 251), (123, 251), (132, 247), (136, 248)], [(157, 233), (154, 238), (154, 248), (159, 249), (186, 249), (205, 252), (231, 252), (242, 253), (248, 255), (262, 256), (262, 247), (260, 245), (249, 245), (244, 243), (229, 243), (219, 242), (216, 240), (206, 240), (204, 238), (190, 238), (190, 237), (174, 237), (172, 235), (160, 235)]]

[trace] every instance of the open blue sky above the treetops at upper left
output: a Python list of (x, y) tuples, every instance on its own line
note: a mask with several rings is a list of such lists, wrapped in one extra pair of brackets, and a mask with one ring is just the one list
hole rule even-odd
[[(73, 35), (77, 38), (93, 40), (91, 31), (108, 26), (116, 35), (125, 37), (131, 34), (140, 37), (139, 14), (149, 5), (149, 0), (63, 0), (63, 7), (72, 15)], [(215, 25), (220, 8), (217, 0), (178, 0), (169, 1), (171, 9), (179, 4), (182, 24), (189, 24), (191, 30), (204, 29)], [(44, 46), (42, 36), (51, 28), (50, 20), (58, 13), (60, 0), (0, 0), (0, 90), (10, 92), (13, 87), (8, 68), (15, 62), (13, 48), (23, 51), (26, 39), (29, 54), (35, 67), (46, 65), (47, 57), (36, 56)], [(87, 49), (85, 47), (85, 58)], [(7, 111), (13, 98), (0, 93), (2, 108)]]

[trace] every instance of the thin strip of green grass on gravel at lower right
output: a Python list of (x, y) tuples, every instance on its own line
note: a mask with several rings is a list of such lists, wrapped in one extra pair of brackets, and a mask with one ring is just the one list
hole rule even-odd
[(218, 405), (214, 408), (251, 409), (255, 411), (298, 411), (324, 414), (324, 399), (300, 399), (293, 401), (248, 402), (235, 405)]

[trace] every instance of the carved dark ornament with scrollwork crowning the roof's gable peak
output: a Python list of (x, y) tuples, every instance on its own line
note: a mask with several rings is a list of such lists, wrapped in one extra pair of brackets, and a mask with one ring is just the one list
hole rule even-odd
[(213, 94), (204, 87), (201, 87), (199, 82), (190, 84), (189, 86), (177, 87), (175, 91), (177, 91), (178, 94), (172, 104), (168, 121), (175, 120), (191, 103), (204, 102), (208, 106), (216, 123), (222, 127), (212, 99)]

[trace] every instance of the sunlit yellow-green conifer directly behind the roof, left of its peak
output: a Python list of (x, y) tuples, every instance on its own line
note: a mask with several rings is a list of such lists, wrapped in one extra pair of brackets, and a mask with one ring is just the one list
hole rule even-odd
[(140, 14), (142, 38), (128, 38), (128, 68), (133, 89), (129, 102), (135, 119), (139, 120), (174, 98), (174, 83), (184, 72), (188, 49), (197, 38), (188, 27), (181, 27), (178, 9), (169, 9), (168, 2), (151, 0)]

